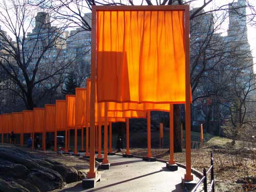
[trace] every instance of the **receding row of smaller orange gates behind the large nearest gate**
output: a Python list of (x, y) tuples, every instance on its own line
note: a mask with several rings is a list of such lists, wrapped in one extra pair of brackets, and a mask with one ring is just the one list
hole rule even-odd
[[(12, 114), (0, 115), (0, 134), (1, 141), (4, 143), (5, 135), (8, 141), (8, 135), (13, 132), (20, 134), (20, 146), (24, 145), (24, 134), (31, 134), (34, 141), (35, 134), (42, 134), (42, 150), (46, 150), (46, 133), (54, 132), (54, 151), (57, 151), (57, 132), (65, 131), (65, 152), (69, 149), (69, 131), (75, 130), (74, 154), (78, 154), (77, 150), (77, 130), (81, 129), (81, 151), (84, 151), (83, 128), (86, 127), (86, 156), (89, 156), (89, 127), (90, 127), (90, 78), (87, 79), (87, 88), (76, 88), (75, 95), (66, 95), (66, 100), (56, 100), (55, 104), (46, 104), (45, 108), (34, 108), (33, 110), (24, 110), (22, 112), (14, 112)], [(97, 99), (96, 99), (97, 100)], [(169, 112), (173, 105), (169, 104), (152, 104), (152, 103), (114, 103), (114, 102), (95, 102), (95, 125), (98, 127), (96, 132), (101, 133), (101, 126), (104, 122), (105, 112), (108, 116), (108, 124), (110, 132), (112, 132), (113, 122), (126, 122), (126, 154), (130, 154), (129, 149), (129, 119), (130, 118), (146, 118), (150, 125), (150, 111), (156, 110), (156, 106), (161, 111)], [(108, 110), (105, 110), (108, 108)], [(170, 112), (173, 116), (173, 112)], [(161, 123), (162, 124), (162, 123)], [(108, 135), (107, 130), (104, 133)], [(150, 134), (150, 132), (148, 133)], [(105, 135), (105, 134), (104, 134)], [(163, 133), (161, 134), (163, 135)], [(97, 134), (95, 146), (101, 146), (101, 134)], [(112, 134), (110, 134), (111, 140)], [(150, 135), (149, 135), (150, 136)], [(110, 153), (112, 152), (112, 142), (110, 141)], [(151, 155), (151, 145), (148, 143), (148, 157)], [(34, 148), (34, 142), (32, 142)], [(99, 154), (100, 147), (97, 147)]]

